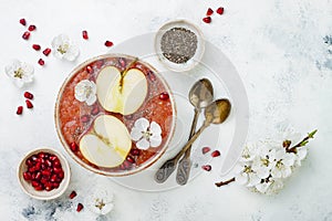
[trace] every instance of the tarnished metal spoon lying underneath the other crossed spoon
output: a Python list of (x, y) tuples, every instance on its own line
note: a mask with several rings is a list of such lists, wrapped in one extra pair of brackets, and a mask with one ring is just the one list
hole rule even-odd
[[(189, 101), (191, 105), (195, 107), (194, 112), (194, 119), (191, 123), (191, 129), (189, 139), (196, 131), (196, 125), (198, 116), (203, 108), (207, 107), (214, 101), (214, 87), (209, 80), (203, 78), (196, 82), (189, 92)], [(178, 185), (186, 185), (190, 173), (190, 149), (189, 147), (185, 152), (185, 156), (179, 160), (177, 173), (176, 173), (176, 181)]]

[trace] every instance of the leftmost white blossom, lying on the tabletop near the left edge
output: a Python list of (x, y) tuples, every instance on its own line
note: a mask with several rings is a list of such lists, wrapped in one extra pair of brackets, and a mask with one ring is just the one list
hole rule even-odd
[(25, 83), (33, 81), (33, 66), (24, 62), (14, 60), (12, 64), (4, 67), (6, 74), (18, 86), (22, 87)]

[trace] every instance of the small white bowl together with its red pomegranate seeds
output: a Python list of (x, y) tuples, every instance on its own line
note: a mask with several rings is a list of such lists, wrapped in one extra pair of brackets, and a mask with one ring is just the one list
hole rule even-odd
[(48, 147), (28, 152), (18, 168), (22, 190), (39, 200), (60, 197), (69, 186), (70, 176), (70, 167), (64, 156)]

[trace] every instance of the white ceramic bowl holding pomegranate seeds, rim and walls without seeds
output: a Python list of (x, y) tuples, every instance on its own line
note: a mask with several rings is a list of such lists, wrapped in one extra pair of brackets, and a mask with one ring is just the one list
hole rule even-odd
[[(61, 162), (62, 169), (64, 171), (64, 177), (58, 189), (53, 189), (51, 191), (46, 191), (46, 190), (38, 191), (32, 187), (31, 182), (24, 180), (24, 178), (23, 178), (23, 172), (28, 168), (25, 165), (25, 160), (29, 157), (31, 157), (32, 155), (39, 154), (41, 151), (55, 155)], [(59, 151), (56, 151), (52, 148), (49, 148), (49, 147), (41, 147), (41, 148), (37, 148), (37, 149), (29, 151), (23, 157), (23, 159), (20, 161), (19, 167), (18, 167), (18, 179), (19, 179), (19, 183), (20, 183), (23, 192), (25, 192), (28, 196), (30, 196), (34, 199), (39, 199), (39, 200), (51, 200), (51, 199), (55, 199), (55, 198), (60, 197), (66, 190), (69, 182), (70, 182), (70, 177), (71, 177), (71, 170), (70, 170), (68, 160), (64, 158), (64, 156), (62, 154), (60, 154)]]

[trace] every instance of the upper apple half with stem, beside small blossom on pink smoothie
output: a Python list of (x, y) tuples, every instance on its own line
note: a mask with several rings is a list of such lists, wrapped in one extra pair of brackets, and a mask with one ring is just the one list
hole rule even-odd
[(131, 69), (122, 76), (115, 66), (106, 66), (97, 76), (96, 87), (103, 108), (123, 115), (135, 113), (147, 95), (147, 81), (138, 69)]

